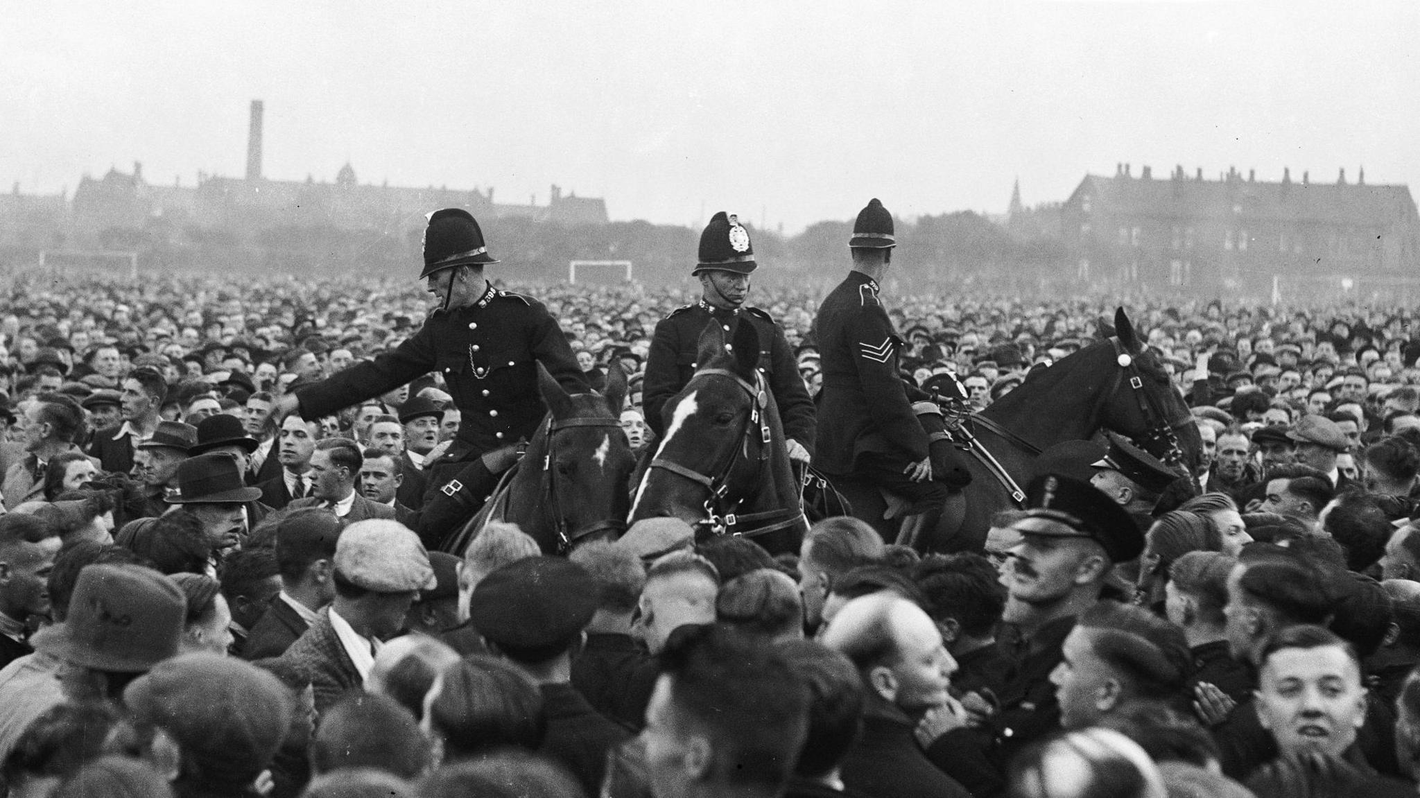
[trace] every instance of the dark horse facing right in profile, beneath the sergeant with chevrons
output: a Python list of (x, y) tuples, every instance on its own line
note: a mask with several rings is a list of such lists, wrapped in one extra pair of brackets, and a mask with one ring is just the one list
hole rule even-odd
[[(1024, 491), (1031, 481), (1035, 457), (1100, 429), (1133, 439), (1170, 466), (1187, 470), (1197, 463), (1203, 440), (1189, 406), (1123, 308), (1115, 312), (1113, 329), (1102, 325), (1100, 332), (1108, 338), (1049, 368), (1035, 368), (1015, 390), (967, 417), (966, 434), (953, 437), (958, 449), (963, 440), (974, 439), (970, 449), (957, 453), (971, 471), (971, 484), (947, 503), (936, 528), (914, 541), (917, 547), (978, 551), (991, 517), (1022, 505), (1024, 494), (1017, 488)], [(839, 487), (853, 503), (855, 515), (883, 530), (886, 501), (880, 494), (862, 486)]]

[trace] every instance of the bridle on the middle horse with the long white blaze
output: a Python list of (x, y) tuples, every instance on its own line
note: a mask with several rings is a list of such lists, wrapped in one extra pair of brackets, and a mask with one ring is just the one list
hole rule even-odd
[[(760, 457), (758, 467), (763, 470), (764, 463), (770, 460), (770, 443), (774, 436), (770, 433), (770, 419), (765, 408), (770, 403), (770, 393), (764, 385), (764, 375), (754, 373), (754, 385), (751, 385), (743, 376), (734, 373), (730, 369), (701, 369), (690, 378), (690, 382), (700, 379), (701, 376), (727, 376), (740, 386), (750, 398), (750, 415), (744, 422), (744, 430), (740, 433), (743, 442), (738, 446), (730, 447), (730, 454), (726, 457), (723, 466), (714, 470), (716, 476), (706, 476), (694, 469), (687, 469), (680, 463), (666, 460), (663, 457), (656, 457), (650, 461), (652, 469), (662, 469), (684, 477), (700, 487), (706, 488), (707, 496), (704, 501), (706, 517), (696, 521), (697, 527), (707, 527), (716, 534), (728, 535), (761, 535), (764, 532), (772, 532), (775, 530), (784, 530), (797, 524), (804, 524), (808, 527), (808, 520), (804, 517), (804, 510), (798, 505), (794, 508), (780, 508), (780, 510), (765, 510), (763, 513), (736, 513), (741, 498), (733, 503), (727, 501), (727, 494), (730, 491), (730, 474), (734, 473), (734, 466), (743, 457), (748, 457), (750, 443), (757, 436), (760, 440)], [(690, 383), (686, 383), (686, 389)], [(741, 524), (753, 525), (760, 521), (770, 521), (763, 527), (753, 527), (740, 530)]]

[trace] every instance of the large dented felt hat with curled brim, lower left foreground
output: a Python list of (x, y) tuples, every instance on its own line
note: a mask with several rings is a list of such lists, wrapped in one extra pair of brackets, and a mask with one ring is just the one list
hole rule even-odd
[(80, 571), (68, 618), (31, 643), (81, 667), (141, 673), (178, 655), (186, 615), (182, 589), (158, 571), (89, 565)]

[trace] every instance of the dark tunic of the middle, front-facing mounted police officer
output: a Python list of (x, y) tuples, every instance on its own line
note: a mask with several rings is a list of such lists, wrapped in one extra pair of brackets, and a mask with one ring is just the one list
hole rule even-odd
[(642, 383), (642, 402), (646, 410), (646, 425), (657, 436), (665, 434), (662, 410), (666, 402), (679, 393), (696, 373), (697, 346), (706, 324), (714, 319), (724, 329), (728, 341), (736, 325), (748, 319), (760, 334), (760, 372), (774, 392), (774, 403), (780, 409), (784, 434), (799, 442), (814, 453), (815, 412), (814, 399), (798, 373), (794, 351), (784, 338), (784, 328), (770, 314), (760, 308), (724, 310), (701, 300), (693, 305), (677, 308), (656, 324), (646, 358), (646, 376)]

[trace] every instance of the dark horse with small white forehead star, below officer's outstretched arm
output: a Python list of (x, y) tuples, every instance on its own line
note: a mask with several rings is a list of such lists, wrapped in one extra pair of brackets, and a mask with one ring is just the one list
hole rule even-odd
[(440, 550), (463, 557), (488, 521), (517, 524), (545, 554), (626, 530), (626, 483), (636, 464), (619, 420), (626, 375), (611, 368), (605, 396), (568, 393), (538, 365), (538, 390), (548, 413), (527, 453)]

